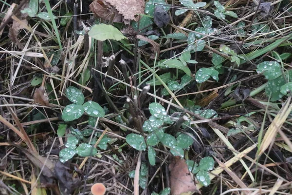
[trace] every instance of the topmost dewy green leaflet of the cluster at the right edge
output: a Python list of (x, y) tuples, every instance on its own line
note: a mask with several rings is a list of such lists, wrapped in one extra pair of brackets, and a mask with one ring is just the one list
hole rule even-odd
[(276, 61), (264, 61), (259, 63), (257, 66), (256, 72), (262, 73), (264, 72), (264, 76), (266, 79), (275, 79), (282, 75), (281, 66)]

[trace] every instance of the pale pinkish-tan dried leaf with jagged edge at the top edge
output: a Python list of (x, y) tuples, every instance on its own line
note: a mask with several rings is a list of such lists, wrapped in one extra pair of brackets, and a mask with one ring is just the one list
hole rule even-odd
[(143, 14), (145, 10), (145, 0), (105, 0), (124, 16), (124, 20), (138, 21), (136, 15)]

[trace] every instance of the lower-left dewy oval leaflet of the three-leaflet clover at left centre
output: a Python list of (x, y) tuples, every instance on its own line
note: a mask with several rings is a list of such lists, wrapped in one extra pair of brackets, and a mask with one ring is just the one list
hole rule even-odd
[(70, 104), (63, 110), (62, 119), (64, 121), (72, 121), (80, 118), (84, 113), (83, 106), (77, 104)]

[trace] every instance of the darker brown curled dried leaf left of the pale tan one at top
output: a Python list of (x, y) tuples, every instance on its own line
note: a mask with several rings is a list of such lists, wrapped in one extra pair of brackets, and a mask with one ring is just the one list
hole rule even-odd
[(99, 18), (113, 22), (123, 22), (122, 14), (110, 6), (110, 3), (102, 0), (95, 0), (89, 5), (89, 9), (93, 14)]

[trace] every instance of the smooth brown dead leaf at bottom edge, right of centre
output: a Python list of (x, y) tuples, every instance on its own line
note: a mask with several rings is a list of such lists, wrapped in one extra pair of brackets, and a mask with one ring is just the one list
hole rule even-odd
[(171, 195), (198, 192), (194, 176), (189, 172), (184, 159), (175, 156), (169, 164)]

